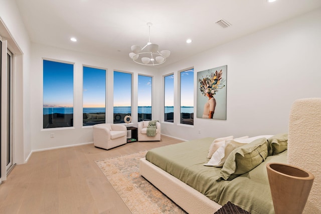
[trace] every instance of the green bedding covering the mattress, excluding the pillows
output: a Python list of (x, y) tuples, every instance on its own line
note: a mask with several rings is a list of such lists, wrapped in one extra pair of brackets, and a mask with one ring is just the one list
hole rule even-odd
[(191, 140), (151, 149), (146, 160), (162, 168), (215, 202), (227, 201), (255, 213), (274, 213), (266, 172), (267, 162), (286, 163), (287, 150), (268, 156), (253, 170), (234, 178), (218, 181), (221, 167), (204, 166), (214, 138)]

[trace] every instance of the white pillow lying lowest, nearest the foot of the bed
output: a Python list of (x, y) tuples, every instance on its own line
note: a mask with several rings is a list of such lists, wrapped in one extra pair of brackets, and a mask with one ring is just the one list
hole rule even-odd
[(229, 154), (236, 148), (244, 145), (244, 143), (239, 143), (233, 140), (226, 140), (224, 145), (217, 149), (214, 152), (213, 156), (209, 160), (208, 163), (204, 164), (204, 166), (223, 166), (225, 160), (229, 156)]

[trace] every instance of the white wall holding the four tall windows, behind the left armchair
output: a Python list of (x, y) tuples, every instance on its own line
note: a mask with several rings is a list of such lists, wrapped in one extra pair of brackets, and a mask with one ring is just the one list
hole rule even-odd
[[(56, 61), (74, 63), (74, 127), (43, 129), (42, 106), (43, 106), (43, 58)], [(93, 56), (85, 53), (68, 51), (39, 44), (32, 44), (31, 58), (31, 140), (32, 150), (43, 150), (49, 148), (65, 147), (76, 144), (92, 142), (92, 126), (82, 127), (82, 72), (83, 65), (94, 66), (107, 70), (107, 122), (113, 122), (113, 71), (124, 71), (133, 73), (133, 113), (137, 112), (137, 86), (138, 74), (153, 76), (155, 68), (135, 65), (134, 63), (123, 63)], [(158, 88), (158, 82), (154, 81), (154, 87)], [(153, 106), (157, 105), (154, 100)], [(157, 111), (153, 112), (157, 117)], [(137, 125), (137, 114), (132, 115), (133, 123)], [(51, 138), (50, 134), (55, 137)]]

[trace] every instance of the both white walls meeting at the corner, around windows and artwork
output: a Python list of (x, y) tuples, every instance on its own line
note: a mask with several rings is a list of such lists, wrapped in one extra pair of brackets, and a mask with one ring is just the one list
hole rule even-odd
[[(320, 10), (251, 34), (165, 68), (143, 67), (99, 56), (32, 44), (30, 72), (31, 150), (92, 142), (92, 128), (82, 127), (82, 65), (107, 69), (107, 122), (113, 116), (113, 71), (133, 72), (133, 112), (137, 107), (137, 75), (154, 78), (153, 119), (161, 120), (163, 75), (183, 69), (197, 72), (227, 65), (227, 120), (195, 118), (194, 126), (162, 123), (162, 133), (182, 139), (287, 132), (288, 113), (298, 98), (319, 97), (321, 62)], [(42, 129), (42, 59), (75, 63), (74, 128)], [(28, 77), (26, 77), (28, 80)], [(24, 80), (24, 82), (26, 82)], [(198, 83), (195, 81), (195, 103)], [(175, 105), (178, 106), (175, 92)], [(24, 104), (25, 105), (25, 104)], [(24, 107), (25, 110), (28, 106)], [(203, 108), (203, 107), (202, 107)], [(196, 109), (195, 109), (196, 115)], [(133, 115), (136, 123), (136, 115)], [(201, 130), (201, 134), (199, 134)], [(55, 138), (50, 138), (55, 133)]]

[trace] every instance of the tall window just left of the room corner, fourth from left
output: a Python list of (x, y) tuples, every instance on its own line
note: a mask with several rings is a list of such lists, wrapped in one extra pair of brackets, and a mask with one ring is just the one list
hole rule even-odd
[(151, 120), (152, 77), (138, 75), (138, 122)]

